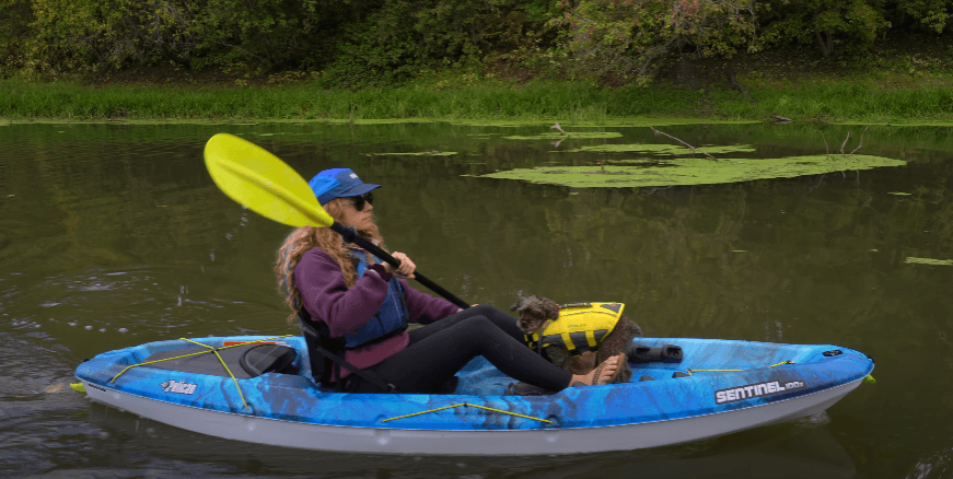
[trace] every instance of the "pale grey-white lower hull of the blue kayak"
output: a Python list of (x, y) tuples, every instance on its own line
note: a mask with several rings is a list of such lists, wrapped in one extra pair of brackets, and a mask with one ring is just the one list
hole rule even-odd
[(630, 451), (687, 443), (823, 412), (862, 379), (727, 412), (638, 424), (512, 431), (448, 431), (321, 425), (256, 418), (103, 390), (90, 399), (176, 428), (249, 443), (315, 451), (420, 455), (536, 455)]

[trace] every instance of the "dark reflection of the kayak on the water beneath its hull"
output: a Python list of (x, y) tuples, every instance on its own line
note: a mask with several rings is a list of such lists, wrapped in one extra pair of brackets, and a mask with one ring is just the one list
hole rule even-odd
[[(641, 452), (579, 456), (400, 456), (295, 451), (237, 443), (183, 431), (101, 405), (90, 421), (111, 437), (147, 449), (152, 474), (174, 465), (202, 474), (252, 477), (361, 478), (853, 478), (850, 456), (829, 431), (810, 421), (762, 428), (729, 437)], [(118, 454), (117, 454), (118, 456)], [(123, 464), (127, 459), (117, 457)], [(164, 459), (164, 460), (163, 460)], [(112, 460), (112, 459), (111, 459)], [(221, 466), (228, 464), (228, 469)], [(209, 466), (211, 465), (211, 466)], [(195, 469), (191, 469), (195, 467)], [(206, 470), (207, 469), (207, 470)]]

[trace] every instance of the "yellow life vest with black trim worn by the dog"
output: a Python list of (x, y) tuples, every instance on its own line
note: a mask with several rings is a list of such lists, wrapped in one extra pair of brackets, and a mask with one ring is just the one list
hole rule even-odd
[[(559, 317), (541, 335), (525, 335), (530, 348), (541, 350), (561, 346), (572, 355), (598, 349), (598, 343), (612, 332), (623, 316), (623, 303), (572, 303), (559, 306)], [(542, 340), (541, 340), (542, 336)]]

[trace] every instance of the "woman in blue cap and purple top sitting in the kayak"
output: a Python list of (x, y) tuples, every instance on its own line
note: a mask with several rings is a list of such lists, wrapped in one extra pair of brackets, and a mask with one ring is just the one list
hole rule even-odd
[[(328, 214), (383, 248), (372, 214), (371, 190), (380, 186), (347, 168), (326, 170), (311, 180)], [(460, 309), (415, 290), (406, 281), (414, 278), (414, 261), (403, 253), (392, 256), (399, 267), (346, 244), (327, 227), (303, 226), (284, 240), (275, 271), (294, 314), (303, 307), (312, 320), (324, 322), (330, 337), (345, 339), (345, 361), (386, 378), (398, 392), (438, 393), (477, 355), (518, 381), (553, 392), (577, 383), (607, 384), (619, 371), (621, 354), (585, 375), (551, 364), (522, 342), (513, 317), (489, 305)], [(426, 326), (407, 330), (408, 322)], [(346, 392), (381, 392), (346, 369), (339, 373), (334, 379)]]

